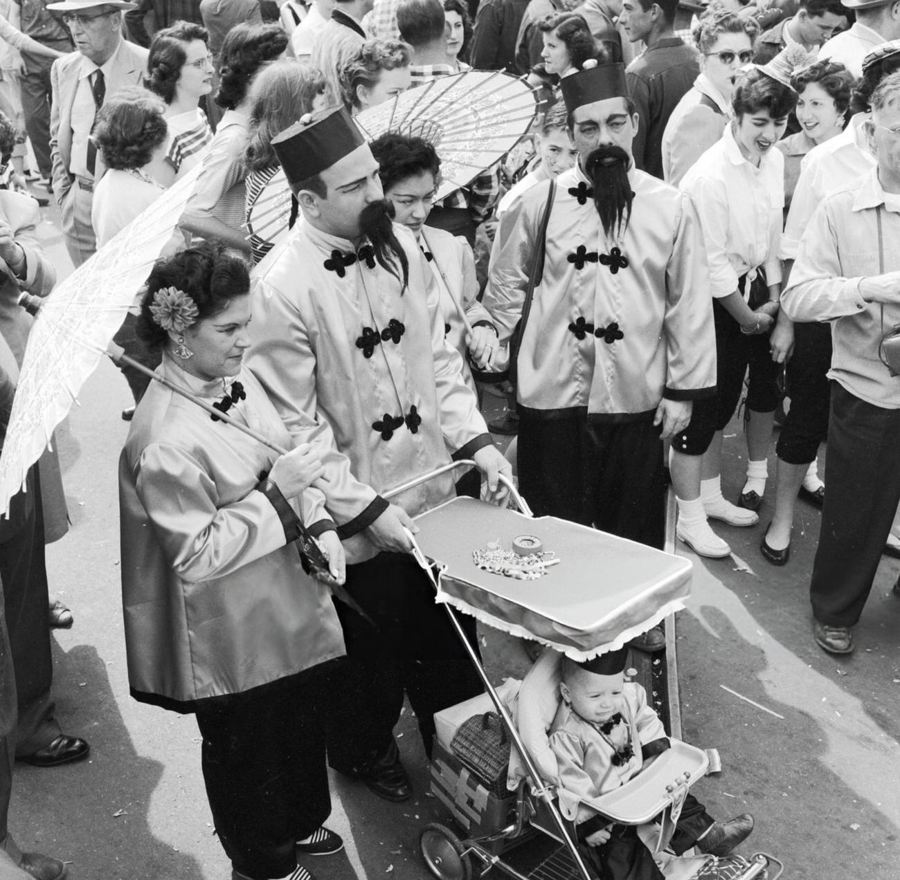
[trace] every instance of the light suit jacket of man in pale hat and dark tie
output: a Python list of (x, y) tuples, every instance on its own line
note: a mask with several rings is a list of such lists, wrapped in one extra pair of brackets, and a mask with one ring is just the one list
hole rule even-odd
[[(111, 96), (125, 85), (141, 85), (147, 68), (147, 49), (122, 40), (116, 49), (112, 73), (106, 77), (106, 95)], [(50, 68), (53, 104), (50, 110), (50, 152), (53, 157), (53, 193), (62, 202), (72, 185), (68, 166), (72, 160), (72, 104), (78, 88), (81, 52), (70, 52), (57, 58)], [(97, 165), (97, 177), (102, 175)], [(104, 169), (105, 170), (105, 169)]]

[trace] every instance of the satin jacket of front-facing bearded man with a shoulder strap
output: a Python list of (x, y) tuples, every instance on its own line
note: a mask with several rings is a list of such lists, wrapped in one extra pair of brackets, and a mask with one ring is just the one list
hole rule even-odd
[[(635, 168), (631, 220), (608, 240), (587, 178), (556, 179), (544, 274), (518, 356), (518, 401), (533, 418), (586, 413), (626, 421), (662, 397), (692, 400), (716, 386), (709, 273), (687, 195)], [(522, 316), (540, 242), (549, 182), (533, 186), (500, 220), (483, 304), (506, 343)], [(581, 189), (580, 189), (581, 188)], [(580, 200), (581, 199), (581, 200)], [(628, 265), (602, 265), (618, 247)]]

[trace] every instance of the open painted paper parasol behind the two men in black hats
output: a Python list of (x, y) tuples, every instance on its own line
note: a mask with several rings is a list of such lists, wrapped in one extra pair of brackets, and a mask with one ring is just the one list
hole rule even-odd
[[(538, 109), (537, 92), (525, 80), (502, 70), (465, 70), (365, 110), (356, 124), (369, 140), (396, 131), (430, 141), (441, 159), (439, 201), (514, 148)], [(279, 170), (250, 206), (247, 229), (275, 243), (288, 229), (291, 214), (291, 191)]]

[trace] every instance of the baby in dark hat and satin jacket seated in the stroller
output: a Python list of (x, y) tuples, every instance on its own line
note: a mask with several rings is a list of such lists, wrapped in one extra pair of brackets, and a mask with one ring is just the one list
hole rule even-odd
[[(644, 687), (625, 681), (627, 649), (577, 663), (563, 657), (563, 701), (550, 728), (550, 748), (559, 765), (563, 814), (576, 823), (582, 858), (604, 880), (662, 880), (653, 856), (633, 825), (618, 825), (583, 802), (605, 795), (670, 748)], [(691, 847), (728, 855), (753, 830), (750, 813), (716, 822), (687, 795), (671, 849)]]

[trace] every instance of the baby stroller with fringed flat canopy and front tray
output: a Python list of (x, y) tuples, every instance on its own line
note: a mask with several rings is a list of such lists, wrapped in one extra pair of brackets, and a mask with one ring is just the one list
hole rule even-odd
[[(455, 462), (391, 495), (471, 463)], [(450, 615), (486, 693), (435, 716), (431, 791), (465, 833), (460, 837), (445, 825), (430, 824), (420, 834), (420, 849), (438, 880), (470, 880), (492, 868), (517, 880), (597, 880), (581, 858), (573, 823), (560, 811), (555, 759), (547, 741), (558, 703), (561, 652), (573, 660), (590, 659), (621, 647), (682, 608), (692, 563), (552, 516), (535, 518), (511, 484), (509, 489), (518, 511), (454, 498), (417, 518), (415, 553), (437, 589), (438, 601), (552, 649), (544, 651), (524, 681), (508, 679), (493, 687), (477, 652)], [(538, 579), (522, 580), (482, 570), (473, 559), (473, 550), (486, 542), (509, 547), (521, 545), (523, 539), (527, 546), (552, 551), (558, 564)], [(477, 715), (487, 719), (490, 713), (500, 716), (511, 747), (509, 771), (500, 780), (482, 776), (477, 760), (454, 750), (455, 733), (466, 720)], [(777, 880), (784, 867), (764, 853), (749, 860), (665, 854), (689, 787), (707, 766), (706, 752), (672, 739), (671, 749), (643, 773), (588, 805), (614, 822), (644, 826), (639, 833), (659, 854), (657, 864), (667, 880)], [(654, 820), (658, 824), (651, 824)], [(502, 857), (537, 833), (549, 835), (560, 847), (525, 875)]]

